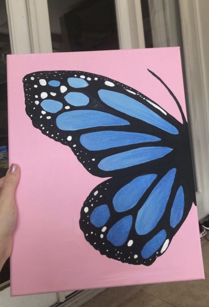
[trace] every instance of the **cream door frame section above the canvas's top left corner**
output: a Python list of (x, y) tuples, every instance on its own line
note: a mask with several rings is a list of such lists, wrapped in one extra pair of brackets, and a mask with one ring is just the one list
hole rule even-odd
[(11, 52), (52, 52), (47, 0), (6, 0)]

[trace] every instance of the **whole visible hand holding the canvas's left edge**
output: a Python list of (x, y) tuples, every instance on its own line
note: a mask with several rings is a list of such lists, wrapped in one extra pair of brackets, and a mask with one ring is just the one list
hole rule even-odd
[(12, 252), (12, 234), (17, 220), (14, 194), (19, 179), (17, 164), (12, 164), (6, 176), (0, 178), (0, 270)]

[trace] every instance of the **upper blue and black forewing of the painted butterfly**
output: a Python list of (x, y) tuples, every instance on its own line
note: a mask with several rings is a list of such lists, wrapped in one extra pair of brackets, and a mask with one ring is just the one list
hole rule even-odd
[(93, 175), (143, 173), (156, 159), (174, 159), (182, 124), (140, 92), (75, 71), (35, 72), (23, 83), (33, 125), (69, 146)]

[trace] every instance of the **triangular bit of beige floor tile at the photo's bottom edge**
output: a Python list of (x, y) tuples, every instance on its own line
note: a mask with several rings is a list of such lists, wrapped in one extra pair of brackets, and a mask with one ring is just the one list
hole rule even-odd
[(153, 295), (150, 295), (143, 290), (134, 294), (130, 299), (125, 301), (119, 307), (171, 307), (170, 305)]

